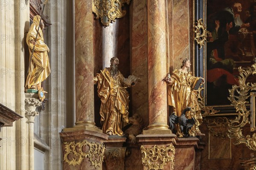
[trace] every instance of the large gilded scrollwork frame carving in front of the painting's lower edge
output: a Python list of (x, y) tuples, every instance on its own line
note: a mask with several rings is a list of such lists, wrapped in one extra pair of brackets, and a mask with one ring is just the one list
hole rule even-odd
[(250, 91), (256, 90), (256, 83), (246, 82), (247, 78), (251, 75), (256, 74), (256, 64), (253, 64), (252, 67), (247, 69), (241, 69), (239, 67), (239, 85), (233, 85), (232, 89), (229, 90), (230, 97), (228, 98), (236, 108), (238, 116), (234, 120), (230, 120), (229, 123), (229, 134), (228, 136), (231, 139), (236, 139), (233, 143), (237, 144), (246, 144), (250, 150), (256, 150), (256, 133), (251, 135), (243, 135), (243, 127), (246, 124), (250, 124), (248, 116), (250, 116), (250, 111), (247, 110), (246, 104), (249, 104), (246, 101), (250, 97)]

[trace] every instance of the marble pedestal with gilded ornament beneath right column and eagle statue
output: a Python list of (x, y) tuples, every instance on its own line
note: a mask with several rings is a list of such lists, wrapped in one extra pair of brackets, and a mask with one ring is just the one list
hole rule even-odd
[[(143, 169), (200, 170), (204, 144), (198, 138), (177, 138), (176, 135), (138, 135), (142, 144)], [(137, 157), (138, 159), (138, 157)], [(154, 161), (158, 159), (158, 161)]]

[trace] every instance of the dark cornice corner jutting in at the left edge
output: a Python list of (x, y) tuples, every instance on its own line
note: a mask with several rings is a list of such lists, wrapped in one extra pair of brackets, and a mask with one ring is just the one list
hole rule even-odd
[(0, 104), (0, 126), (12, 126), (12, 123), (20, 118), (23, 117)]

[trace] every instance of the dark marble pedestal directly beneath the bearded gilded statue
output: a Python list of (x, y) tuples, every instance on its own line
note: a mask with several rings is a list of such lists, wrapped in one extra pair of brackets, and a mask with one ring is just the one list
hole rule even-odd
[(103, 170), (125, 170), (125, 151), (123, 147), (126, 138), (108, 138), (104, 141), (106, 150), (104, 154)]

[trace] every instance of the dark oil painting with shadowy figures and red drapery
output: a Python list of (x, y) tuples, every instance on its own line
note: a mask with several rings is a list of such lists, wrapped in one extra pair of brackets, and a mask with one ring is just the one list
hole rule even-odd
[[(256, 0), (207, 0), (207, 105), (230, 105), (238, 68), (256, 57)], [(255, 77), (247, 79), (255, 82)]]

